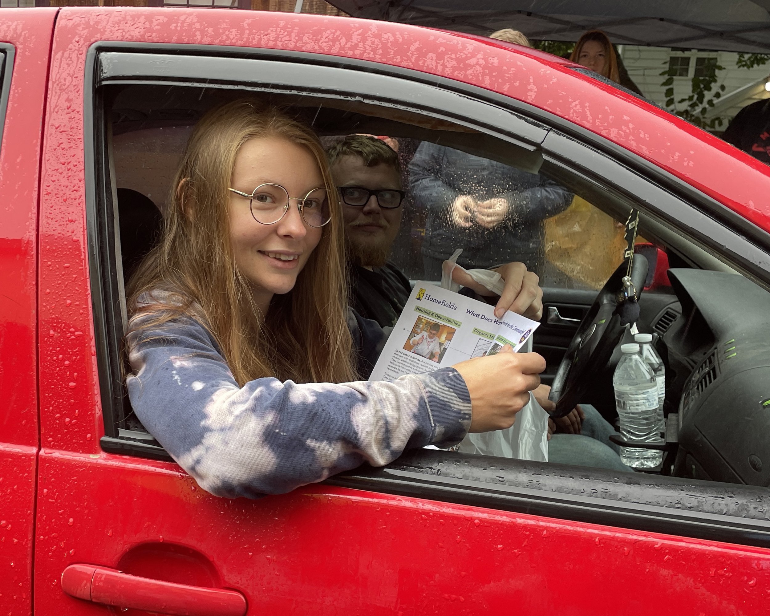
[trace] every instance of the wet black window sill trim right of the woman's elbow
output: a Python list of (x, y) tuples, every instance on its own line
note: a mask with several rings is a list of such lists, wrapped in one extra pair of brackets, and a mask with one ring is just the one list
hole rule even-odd
[[(627, 494), (623, 500), (618, 498), (613, 494), (618, 485), (616, 471), (417, 450), (387, 467), (364, 465), (324, 483), (634, 531), (770, 547), (770, 519), (745, 517), (739, 512), (740, 507), (766, 511), (770, 493), (765, 488), (654, 475), (644, 478), (646, 483), (625, 491), (638, 490), (641, 500), (645, 491), (652, 490), (659, 504), (634, 502)], [(565, 480), (573, 482), (571, 492), (560, 491)], [(556, 485), (559, 482), (561, 486)], [(602, 497), (587, 495), (598, 491), (598, 486)], [(721, 498), (716, 500), (717, 496)], [(714, 511), (703, 511), (708, 499), (714, 499)], [(728, 500), (731, 502), (725, 503)], [(726, 513), (716, 511), (719, 508)]]

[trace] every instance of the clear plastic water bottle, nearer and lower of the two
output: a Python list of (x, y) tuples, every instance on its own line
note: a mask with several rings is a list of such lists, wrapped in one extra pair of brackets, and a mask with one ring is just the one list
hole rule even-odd
[[(612, 377), (615, 403), (621, 420), (621, 437), (632, 443), (663, 443), (658, 432), (658, 383), (639, 354), (637, 343), (621, 346), (623, 357)], [(623, 464), (633, 468), (654, 468), (663, 452), (641, 447), (621, 447)]]

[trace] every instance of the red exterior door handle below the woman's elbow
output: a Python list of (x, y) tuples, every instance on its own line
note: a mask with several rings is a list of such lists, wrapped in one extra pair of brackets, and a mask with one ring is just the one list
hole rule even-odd
[(62, 573), (62, 591), (71, 597), (116, 608), (179, 616), (244, 616), (246, 598), (237, 591), (174, 584), (99, 567), (71, 564)]

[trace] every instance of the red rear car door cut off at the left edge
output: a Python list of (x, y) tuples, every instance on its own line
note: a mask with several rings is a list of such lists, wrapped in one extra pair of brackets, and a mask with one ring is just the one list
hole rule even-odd
[(45, 85), (55, 10), (0, 20), (0, 606), (32, 613), (38, 454), (36, 251)]

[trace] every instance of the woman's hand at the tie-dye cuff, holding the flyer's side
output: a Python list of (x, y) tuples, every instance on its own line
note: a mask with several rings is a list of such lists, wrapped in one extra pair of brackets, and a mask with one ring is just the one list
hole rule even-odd
[(454, 369), (470, 393), (470, 432), (504, 430), (540, 385), (545, 360), (537, 353), (514, 353), (505, 345), (497, 355), (457, 363)]

